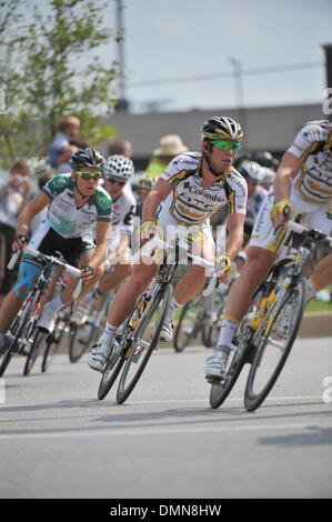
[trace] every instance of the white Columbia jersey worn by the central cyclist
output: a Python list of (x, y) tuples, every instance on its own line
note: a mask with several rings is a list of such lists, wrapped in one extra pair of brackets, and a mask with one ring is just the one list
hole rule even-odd
[(225, 204), (230, 212), (245, 214), (248, 190), (244, 178), (231, 168), (222, 180), (204, 189), (201, 164), (199, 152), (177, 155), (169, 163), (161, 178), (173, 190), (160, 204), (158, 219), (164, 222), (171, 217), (179, 224), (199, 224)]

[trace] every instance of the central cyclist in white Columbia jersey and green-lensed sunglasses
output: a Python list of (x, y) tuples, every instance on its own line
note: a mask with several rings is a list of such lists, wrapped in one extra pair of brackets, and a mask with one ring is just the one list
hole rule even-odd
[[(210, 215), (229, 204), (229, 238), (220, 277), (231, 271), (231, 259), (239, 252), (243, 240), (247, 208), (247, 183), (232, 167), (241, 148), (242, 130), (228, 117), (209, 119), (202, 128), (201, 152), (187, 152), (175, 157), (161, 174), (143, 204), (143, 223), (139, 230), (142, 244), (160, 229), (169, 241), (179, 228), (193, 237), (192, 252), (215, 262), (215, 244), (210, 231)], [(183, 230), (181, 230), (183, 232)], [(102, 371), (112, 350), (113, 335), (132, 311), (137, 299), (144, 292), (158, 270), (158, 262), (134, 264), (128, 282), (118, 292), (109, 312), (108, 324), (100, 340), (92, 347), (89, 365)], [(177, 310), (192, 299), (204, 285), (205, 270), (192, 264), (177, 284), (161, 340), (172, 338), (172, 319)]]

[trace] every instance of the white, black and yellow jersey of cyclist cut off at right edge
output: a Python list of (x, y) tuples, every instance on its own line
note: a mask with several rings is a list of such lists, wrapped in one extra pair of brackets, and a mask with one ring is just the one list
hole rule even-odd
[(332, 200), (332, 123), (325, 120), (306, 123), (289, 152), (302, 162), (292, 182), (301, 197), (314, 203)]

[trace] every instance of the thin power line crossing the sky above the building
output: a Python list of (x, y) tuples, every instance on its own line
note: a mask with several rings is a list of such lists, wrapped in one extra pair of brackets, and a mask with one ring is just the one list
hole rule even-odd
[[(244, 69), (242, 70), (243, 76), (260, 76), (260, 74), (271, 74), (276, 72), (288, 72), (296, 71), (303, 69), (314, 69), (324, 67), (324, 63), (321, 62), (306, 62), (306, 63), (291, 63), (289, 66), (274, 66), (259, 69)], [(154, 80), (141, 80), (141, 81), (131, 81), (128, 82), (128, 87), (134, 89), (138, 87), (154, 87), (154, 86), (164, 86), (170, 83), (188, 83), (193, 81), (207, 81), (207, 80), (217, 80), (220, 78), (231, 78), (234, 76), (233, 71), (229, 72), (215, 72), (212, 74), (198, 74), (194, 77), (178, 77), (178, 78), (160, 78)]]

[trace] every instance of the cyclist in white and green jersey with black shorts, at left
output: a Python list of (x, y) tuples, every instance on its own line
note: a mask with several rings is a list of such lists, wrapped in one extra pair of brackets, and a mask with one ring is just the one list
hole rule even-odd
[[(103, 273), (112, 219), (112, 199), (99, 187), (103, 157), (93, 149), (81, 149), (71, 158), (71, 174), (60, 174), (49, 181), (28, 203), (19, 218), (13, 250), (28, 244), (30, 223), (34, 215), (49, 205), (47, 219), (32, 235), (29, 245), (40, 252), (54, 255), (60, 252), (66, 262), (78, 265), (84, 281), (85, 294)], [(92, 232), (95, 230), (95, 244)], [(19, 279), (7, 295), (0, 313), (0, 333), (10, 327), (23, 300), (40, 273), (38, 260), (24, 254)], [(39, 325), (51, 332), (57, 313), (72, 302), (77, 281), (71, 281), (61, 295), (54, 297), (43, 308)], [(1, 341), (1, 339), (0, 339)]]

